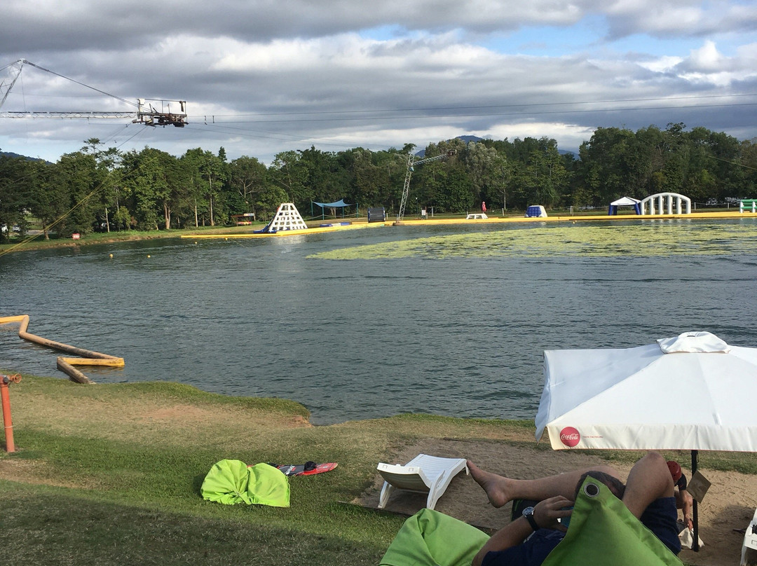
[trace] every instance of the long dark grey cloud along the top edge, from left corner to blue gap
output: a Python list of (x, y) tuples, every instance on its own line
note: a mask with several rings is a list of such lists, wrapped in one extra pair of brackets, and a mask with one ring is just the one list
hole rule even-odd
[(102, 50), (159, 42), (177, 33), (227, 36), (245, 41), (286, 37), (323, 37), (381, 26), (406, 30), (453, 30), (488, 33), (523, 25), (565, 25), (581, 17), (575, 5), (551, 0), (386, 0), (366, 6), (341, 0), (217, 0), (158, 4), (136, 0), (79, 0), (65, 4), (44, 0), (5, 0), (0, 22), (0, 51), (39, 48), (76, 50), (86, 43)]

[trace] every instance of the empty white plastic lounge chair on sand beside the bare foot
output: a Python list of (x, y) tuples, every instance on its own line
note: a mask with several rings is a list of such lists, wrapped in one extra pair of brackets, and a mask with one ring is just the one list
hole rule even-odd
[(428, 493), (426, 507), (433, 509), (453, 477), (463, 469), (469, 474), (468, 465), (463, 458), (439, 458), (427, 454), (419, 454), (405, 465), (379, 462), (377, 469), (385, 480), (381, 495), (378, 496), (379, 509), (385, 507), (395, 488)]

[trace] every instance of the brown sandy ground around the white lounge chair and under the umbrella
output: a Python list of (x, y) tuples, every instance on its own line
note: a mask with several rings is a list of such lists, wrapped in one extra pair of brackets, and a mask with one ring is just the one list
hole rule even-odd
[[(520, 478), (558, 474), (569, 469), (606, 463), (578, 451), (553, 452), (550, 449), (534, 449), (533, 446), (469, 440), (432, 440), (422, 446), (407, 446), (397, 456), (397, 462), (388, 463), (404, 464), (419, 453), (467, 458), (485, 470)], [(630, 465), (615, 467), (624, 475), (631, 468)], [(699, 504), (699, 538), (705, 546), (699, 552), (684, 549), (680, 558), (687, 564), (697, 566), (737, 565), (741, 556), (743, 529), (749, 525), (757, 508), (757, 477), (737, 472), (701, 471), (712, 482), (712, 487)], [(372, 487), (356, 502), (375, 508), (381, 487), (382, 477), (377, 473)], [(386, 508), (391, 512), (413, 515), (424, 506), (425, 496), (422, 494), (395, 491)], [(452, 480), (447, 492), (439, 499), (436, 510), (485, 530), (503, 527), (510, 516), (509, 504), (503, 508), (493, 508), (484, 491), (464, 471)]]

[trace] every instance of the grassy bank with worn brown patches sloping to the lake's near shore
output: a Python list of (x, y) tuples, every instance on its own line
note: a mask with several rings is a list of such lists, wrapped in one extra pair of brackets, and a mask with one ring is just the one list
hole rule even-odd
[[(349, 503), (375, 484), (377, 462), (424, 439), (534, 446), (530, 422), (400, 415), (312, 427), (298, 403), (173, 383), (23, 376), (10, 392), (17, 452), (0, 452), (7, 566), (378, 564), (404, 518)], [(290, 508), (227, 506), (200, 496), (220, 459), (339, 466), (290, 478)], [(705, 455), (702, 465), (757, 473), (751, 456)]]

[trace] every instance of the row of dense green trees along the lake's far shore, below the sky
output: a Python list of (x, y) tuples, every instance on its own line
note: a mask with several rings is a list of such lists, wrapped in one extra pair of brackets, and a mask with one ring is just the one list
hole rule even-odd
[[(0, 225), (30, 219), (45, 237), (121, 231), (226, 225), (231, 215), (273, 216), (282, 202), (294, 202), (307, 218), (311, 202), (344, 198), (368, 207), (400, 206), (407, 157), (413, 145), (369, 151), (326, 152), (314, 147), (283, 151), (270, 166), (255, 157), (228, 160), (190, 149), (181, 157), (145, 148), (120, 152), (97, 138), (57, 163), (0, 156)], [(444, 160), (416, 167), (407, 215), (421, 207), (435, 213), (606, 207), (621, 196), (643, 198), (663, 191), (696, 203), (724, 203), (757, 197), (757, 141), (671, 123), (636, 132), (598, 128), (578, 156), (558, 151), (550, 138), (512, 142), (448, 140), (425, 148), (425, 157), (456, 150)], [(0, 233), (8, 238), (8, 232)]]

